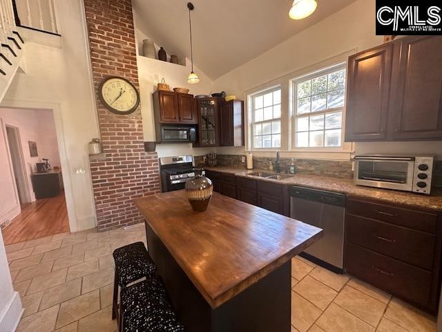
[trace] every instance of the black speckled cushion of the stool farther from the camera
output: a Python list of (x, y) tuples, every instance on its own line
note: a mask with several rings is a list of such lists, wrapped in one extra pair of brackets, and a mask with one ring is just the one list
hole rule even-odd
[(142, 277), (149, 277), (157, 269), (142, 242), (115, 249), (113, 259), (115, 277), (119, 286), (127, 286)]

